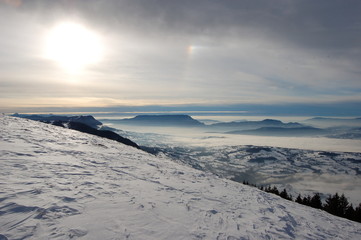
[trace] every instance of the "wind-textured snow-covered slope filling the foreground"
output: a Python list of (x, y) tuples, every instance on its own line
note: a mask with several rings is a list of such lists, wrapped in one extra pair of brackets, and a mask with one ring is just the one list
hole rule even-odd
[(11, 240), (361, 236), (359, 223), (111, 140), (12, 117), (0, 133), (0, 234)]

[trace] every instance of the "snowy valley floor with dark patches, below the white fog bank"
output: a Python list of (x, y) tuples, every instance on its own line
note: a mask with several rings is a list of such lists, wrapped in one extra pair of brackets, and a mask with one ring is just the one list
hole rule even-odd
[(257, 185), (287, 188), (293, 196), (344, 193), (354, 206), (361, 196), (361, 153), (260, 146), (162, 147), (175, 161)]

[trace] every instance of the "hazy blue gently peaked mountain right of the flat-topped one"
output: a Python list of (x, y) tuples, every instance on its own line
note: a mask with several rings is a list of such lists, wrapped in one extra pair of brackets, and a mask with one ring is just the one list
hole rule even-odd
[(264, 119), (262, 121), (241, 121), (241, 122), (223, 122), (209, 125), (212, 128), (248, 130), (262, 127), (283, 127), (283, 128), (299, 128), (304, 125), (296, 122), (283, 123), (279, 120)]

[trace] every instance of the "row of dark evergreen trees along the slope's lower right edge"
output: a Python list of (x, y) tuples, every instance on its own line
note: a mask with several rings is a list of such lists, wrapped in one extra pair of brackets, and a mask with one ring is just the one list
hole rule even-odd
[(348, 202), (344, 194), (339, 195), (338, 193), (335, 193), (334, 195), (329, 195), (323, 203), (319, 193), (315, 193), (312, 196), (301, 196), (301, 194), (298, 194), (298, 196), (293, 200), (292, 195), (289, 194), (286, 189), (280, 191), (276, 186), (257, 186), (255, 184), (249, 184), (247, 181), (243, 181), (243, 184), (257, 187), (258, 189), (268, 193), (276, 194), (289, 201), (321, 209), (330, 214), (361, 223), (361, 203), (354, 208), (352, 203)]

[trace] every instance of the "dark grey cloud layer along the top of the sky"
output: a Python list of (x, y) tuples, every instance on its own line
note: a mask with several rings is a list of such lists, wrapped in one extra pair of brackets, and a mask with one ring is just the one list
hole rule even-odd
[(80, 18), (120, 35), (131, 32), (144, 38), (213, 44), (262, 39), (278, 48), (300, 49), (360, 67), (357, 0), (29, 0), (22, 8), (55, 19)]

